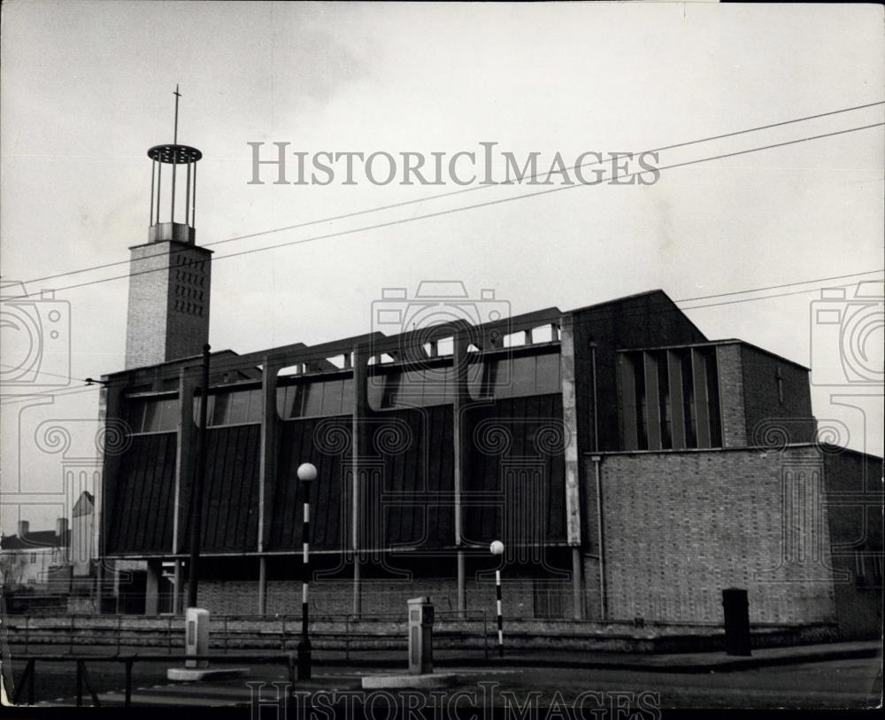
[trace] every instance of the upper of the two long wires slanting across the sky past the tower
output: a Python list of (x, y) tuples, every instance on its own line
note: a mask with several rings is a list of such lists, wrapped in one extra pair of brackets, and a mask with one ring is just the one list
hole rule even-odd
[[(876, 102), (876, 103), (866, 103), (866, 105), (854, 105), (854, 106), (852, 106), (852, 107), (846, 107), (846, 108), (842, 108), (842, 109), (840, 109), (840, 110), (831, 110), (831, 111), (828, 111), (828, 112), (819, 112), (819, 113), (814, 114), (814, 115), (806, 115), (806, 116), (804, 116), (804, 117), (802, 117), (802, 118), (795, 118), (795, 119), (793, 119), (793, 120), (781, 120), (780, 122), (773, 122), (773, 123), (770, 123), (770, 124), (768, 124), (768, 125), (760, 125), (760, 126), (758, 126), (758, 127), (756, 127), (756, 128), (746, 128), (746, 129), (743, 129), (743, 130), (735, 130), (735, 131), (733, 131), (733, 132), (723, 133), (723, 134), (721, 134), (721, 135), (710, 135), (710, 136), (708, 136), (708, 137), (703, 137), (703, 138), (696, 139), (696, 140), (689, 140), (689, 141), (685, 141), (685, 142), (682, 142), (682, 143), (673, 143), (673, 144), (671, 144), (671, 145), (662, 145), (661, 147), (653, 148), (653, 149), (651, 149), (651, 150), (646, 150), (646, 151), (640, 151), (640, 152), (637, 152), (637, 153), (635, 153), (635, 154), (636, 154), (636, 155), (643, 155), (643, 154), (645, 154), (645, 153), (650, 153), (650, 152), (663, 152), (663, 151), (667, 151), (667, 150), (675, 150), (676, 148), (689, 147), (690, 145), (696, 145), (696, 144), (699, 144), (699, 143), (708, 143), (708, 142), (711, 142), (712, 140), (721, 140), (721, 139), (724, 139), (724, 138), (727, 138), (727, 137), (735, 137), (736, 135), (745, 135), (745, 134), (747, 134), (747, 133), (754, 133), (754, 132), (758, 132), (759, 130), (767, 130), (767, 129), (770, 129), (770, 128), (780, 128), (780, 127), (783, 127), (783, 126), (785, 126), (785, 125), (795, 124), (795, 123), (797, 123), (797, 122), (804, 122), (804, 121), (807, 121), (807, 120), (817, 120), (817, 119), (819, 119), (819, 118), (824, 118), (824, 117), (827, 117), (827, 116), (830, 116), (830, 115), (837, 115), (837, 114), (840, 114), (840, 113), (843, 113), (843, 112), (854, 112), (854, 111), (857, 111), (857, 110), (863, 110), (863, 109), (866, 109), (866, 108), (868, 108), (868, 107), (874, 107), (874, 106), (876, 106), (876, 105), (885, 105), (885, 101), (879, 101), (879, 102)], [(567, 170), (572, 170), (572, 171), (574, 171), (574, 170), (578, 169), (579, 167), (589, 167), (589, 166), (594, 166), (594, 165), (601, 165), (602, 163), (603, 163), (602, 160), (596, 160), (596, 161), (593, 161), (593, 162), (578, 163), (578, 164), (576, 164), (576, 165), (574, 165), (574, 166), (570, 166), (570, 167), (568, 167), (568, 168), (566, 168), (566, 169), (567, 169)], [(546, 172), (549, 172), (550, 169), (551, 169), (551, 168), (548, 168), (548, 170), (547, 170)], [(534, 173), (534, 174), (528, 175), (527, 177), (529, 178), (529, 180), (535, 180), (539, 175), (542, 175), (542, 174), (544, 174), (544, 172)], [(525, 176), (523, 176), (523, 177), (525, 177)], [(521, 179), (520, 179), (520, 182), (522, 182)], [(453, 197), (453, 196), (456, 196), (456, 195), (462, 195), (462, 194), (467, 193), (467, 192), (473, 192), (473, 191), (475, 191), (475, 190), (486, 190), (486, 189), (488, 189), (488, 188), (501, 187), (502, 185), (510, 185), (510, 184), (512, 184), (512, 183), (494, 182), (494, 183), (491, 183), (491, 184), (475, 185), (475, 186), (470, 187), (470, 188), (462, 188), (462, 189), (460, 189), (460, 190), (450, 190), (449, 192), (443, 192), (443, 193), (439, 193), (439, 194), (436, 194), (436, 195), (430, 195), (430, 196), (427, 196), (427, 197), (418, 197), (418, 198), (415, 198), (415, 199), (413, 199), (413, 200), (404, 200), (403, 202), (399, 202), (399, 203), (391, 203), (390, 205), (380, 205), (380, 206), (377, 206), (377, 207), (366, 208), (365, 210), (357, 210), (357, 211), (354, 211), (354, 212), (352, 212), (352, 213), (343, 213), (343, 214), (341, 214), (341, 215), (333, 215), (333, 216), (331, 216), (331, 217), (327, 217), (327, 218), (320, 218), (319, 220), (305, 221), (305, 222), (296, 223), (295, 225), (287, 225), (287, 226), (284, 226), (284, 227), (281, 227), (281, 228), (273, 228), (273, 229), (270, 229), (270, 230), (262, 230), (262, 231), (259, 231), (259, 232), (256, 232), (256, 233), (250, 233), (250, 234), (248, 234), (248, 235), (240, 235), (240, 236), (235, 236), (235, 237), (228, 237), (228, 238), (226, 238), (226, 239), (224, 239), (224, 240), (217, 240), (217, 241), (215, 241), (214, 243), (206, 243), (206, 244), (204, 244), (204, 245), (201, 245), (201, 247), (213, 247), (213, 246), (215, 246), (215, 245), (227, 244), (227, 243), (233, 243), (233, 242), (240, 241), (240, 240), (248, 240), (248, 239), (251, 239), (251, 238), (260, 237), (260, 236), (266, 236), (266, 235), (271, 235), (271, 234), (273, 234), (273, 233), (284, 232), (284, 231), (287, 231), (287, 230), (295, 230), (295, 229), (299, 229), (299, 228), (307, 228), (307, 227), (310, 227), (310, 226), (312, 226), (312, 225), (319, 225), (320, 223), (332, 222), (332, 221), (337, 221), (337, 220), (346, 220), (346, 219), (348, 219), (348, 218), (358, 217), (359, 215), (366, 215), (366, 214), (369, 214), (369, 213), (379, 213), (379, 212), (382, 212), (382, 211), (385, 211), (385, 210), (393, 210), (393, 209), (396, 209), (396, 208), (398, 208), (398, 207), (405, 207), (405, 206), (407, 206), (407, 205), (414, 205), (414, 204), (416, 204), (416, 203), (425, 203), (425, 202), (429, 202), (429, 201), (431, 201), (431, 200), (438, 200), (438, 199), (441, 199), (441, 198), (443, 198), (443, 197)], [(177, 252), (184, 252), (184, 251), (176, 250), (176, 251), (173, 251), (173, 253), (171, 253), (171, 254), (175, 254), (175, 253), (177, 253)], [(154, 253), (154, 254), (152, 254), (152, 255), (146, 255), (144, 259), (148, 259), (148, 258), (152, 258), (152, 257), (158, 257), (159, 255), (165, 255), (165, 253), (158, 252), (158, 253)], [(56, 275), (44, 275), (43, 277), (36, 277), (36, 278), (33, 278), (33, 279), (28, 280), (28, 281), (26, 281), (26, 282), (27, 282), (27, 283), (42, 283), (42, 282), (47, 281), (47, 280), (55, 280), (55, 279), (57, 279), (57, 278), (59, 278), (59, 277), (65, 277), (66, 275), (77, 275), (77, 274), (79, 274), (79, 273), (85, 273), (85, 272), (89, 272), (89, 271), (91, 271), (91, 270), (102, 270), (102, 269), (106, 269), (106, 268), (108, 268), (108, 267), (116, 267), (116, 266), (119, 266), (119, 265), (127, 265), (129, 262), (130, 262), (130, 260), (128, 260), (128, 259), (126, 259), (126, 260), (116, 260), (116, 261), (114, 261), (114, 262), (104, 263), (103, 265), (94, 265), (94, 266), (91, 266), (91, 267), (81, 267), (81, 268), (79, 268), (79, 269), (77, 269), (77, 270), (68, 270), (68, 271), (66, 271), (66, 272), (64, 272), (64, 273), (58, 273), (58, 274), (56, 274)], [(161, 269), (162, 269), (162, 268), (161, 268)], [(115, 279), (115, 278), (111, 278), (111, 279)], [(79, 287), (79, 286), (78, 286), (78, 287)]]

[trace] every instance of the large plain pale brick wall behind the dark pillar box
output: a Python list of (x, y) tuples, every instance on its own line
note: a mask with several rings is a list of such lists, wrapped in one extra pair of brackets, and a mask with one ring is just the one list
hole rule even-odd
[[(800, 561), (786, 531), (825, 512), (815, 502), (821, 469), (812, 447), (605, 455), (608, 616), (720, 623), (721, 591), (736, 586), (749, 591), (750, 622), (833, 621), (826, 518), (800, 528), (803, 547), (817, 548)], [(799, 507), (783, 500), (785, 473), (808, 491)]]

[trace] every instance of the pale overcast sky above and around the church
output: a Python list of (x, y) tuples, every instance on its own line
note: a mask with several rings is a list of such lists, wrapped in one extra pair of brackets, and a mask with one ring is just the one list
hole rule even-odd
[[(129, 246), (146, 242), (145, 153), (172, 142), (176, 83), (179, 140), (204, 153), (196, 239), (210, 247), (459, 189), (273, 185), (269, 170), (266, 184), (250, 185), (250, 142), (366, 155), (496, 142), (518, 158), (537, 151), (546, 167), (557, 152), (572, 162), (585, 151), (638, 152), (885, 99), (876, 5), (15, 0), (2, 29), (3, 280), (57, 289), (62, 304), (52, 307), (70, 314), (71, 333), (45, 347), (69, 344), (73, 378), (123, 368), (127, 280), (107, 278), (126, 265), (73, 271), (125, 262)], [(665, 151), (659, 165), (881, 123), (882, 107)], [(273, 146), (264, 150), (271, 157)], [(493, 288), (519, 314), (654, 288), (682, 300), (874, 271), (883, 267), (882, 152), (877, 127), (665, 170), (651, 185), (579, 186), (418, 217), (538, 190), (487, 188), (218, 244), (210, 342), (248, 352), (357, 335), (372, 329), (383, 288), (414, 291), (422, 280), (460, 280), (477, 295)], [(403, 219), (414, 220), (359, 229)], [(812, 328), (812, 301), (821, 286), (858, 279), (688, 314), (707, 337), (829, 362), (832, 377), (839, 339), (833, 326)], [(90, 284), (65, 289), (81, 283)], [(881, 321), (869, 327), (867, 350), (881, 357)], [(62, 357), (47, 354), (42, 369), (64, 375)], [(29, 389), (50, 388), (3, 391)], [(846, 392), (860, 397), (832, 401)], [(843, 442), (881, 454), (881, 386), (815, 385), (812, 397), (819, 419), (845, 424)], [(65, 463), (94, 455), (97, 392), (51, 398), (3, 406), (7, 534), (19, 513), (49, 527), (64, 512)], [(52, 420), (75, 436), (66, 451), (47, 439)]]

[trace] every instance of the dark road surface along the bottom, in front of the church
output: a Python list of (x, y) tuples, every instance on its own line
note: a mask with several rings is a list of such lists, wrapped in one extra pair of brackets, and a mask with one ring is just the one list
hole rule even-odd
[[(21, 664), (15, 662), (16, 677)], [(247, 680), (267, 683), (285, 681), (284, 667), (254, 666), (250, 677), (212, 683), (171, 684), (165, 678), (168, 662), (139, 662), (135, 665), (134, 705), (237, 705), (250, 702)], [(112, 662), (90, 662), (89, 676), (103, 704), (122, 702), (124, 687), (122, 666)], [(458, 685), (443, 699), (460, 707), (502, 707), (526, 701), (540, 707), (561, 702), (573, 707), (584, 699), (583, 716), (592, 717), (598, 707), (598, 695), (607, 693), (604, 702), (642, 701), (646, 708), (659, 702), (662, 708), (863, 708), (881, 693), (881, 660), (840, 660), (768, 667), (732, 672), (685, 674), (639, 670), (569, 670), (562, 668), (445, 669), (458, 674)], [(379, 670), (320, 667), (314, 670), (309, 685), (296, 684), (296, 693), (326, 693), (324, 701), (335, 701), (329, 693), (358, 691), (359, 679)], [(877, 679), (878, 675), (878, 679)], [(879, 690), (873, 692), (878, 682)], [(482, 685), (480, 685), (482, 684)], [(266, 685), (263, 693), (274, 693)], [(440, 692), (440, 691), (436, 691)], [(73, 663), (38, 662), (35, 701), (47, 704), (73, 704), (75, 693)], [(530, 694), (531, 693), (531, 694)], [(581, 693), (585, 693), (581, 695)], [(409, 694), (409, 693), (406, 693)], [(397, 702), (415, 702), (401, 696)], [(262, 695), (266, 698), (266, 695)], [(633, 698), (632, 701), (629, 698)], [(405, 699), (404, 699), (405, 698)], [(350, 696), (350, 701), (356, 698)], [(89, 704), (89, 695), (85, 701)]]

